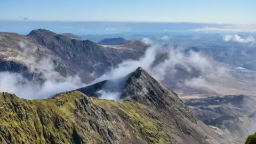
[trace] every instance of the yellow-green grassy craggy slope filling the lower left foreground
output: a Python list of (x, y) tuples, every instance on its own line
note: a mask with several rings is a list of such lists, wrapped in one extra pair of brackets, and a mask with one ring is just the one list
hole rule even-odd
[(0, 94), (0, 143), (170, 143), (166, 122), (140, 103), (66, 92), (25, 100)]

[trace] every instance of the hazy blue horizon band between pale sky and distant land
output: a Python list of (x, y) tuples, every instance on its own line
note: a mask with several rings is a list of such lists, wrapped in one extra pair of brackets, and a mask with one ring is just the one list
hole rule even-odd
[(190, 22), (57, 22), (0, 21), (0, 31), (28, 34), (34, 29), (55, 33), (117, 34), (117, 33), (255, 33), (256, 25), (233, 25)]

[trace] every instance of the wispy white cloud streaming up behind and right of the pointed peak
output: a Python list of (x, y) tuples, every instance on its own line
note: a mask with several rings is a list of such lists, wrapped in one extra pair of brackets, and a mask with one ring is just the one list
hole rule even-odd
[[(159, 60), (157, 55), (163, 53), (167, 54), (166, 59)], [(110, 86), (114, 84), (116, 91), (113, 91), (113, 89), (111, 89), (111, 91), (104, 89), (102, 93), (108, 93), (106, 94), (108, 97), (104, 97), (102, 94), (100, 98), (119, 100), (118, 93), (120, 93), (120, 91), (118, 90), (122, 87), (122, 81), (124, 81), (122, 78), (132, 73), (138, 67), (145, 69), (159, 82), (173, 82), (176, 86), (190, 87), (192, 89), (203, 88), (212, 90), (211, 86), (207, 85), (207, 80), (209, 78), (218, 79), (222, 74), (226, 73), (226, 68), (213, 61), (210, 57), (207, 57), (207, 55), (197, 52), (185, 54), (180, 49), (164, 50), (160, 45), (154, 44), (147, 49), (145, 55), (139, 60), (125, 60), (106, 74), (103, 74), (100, 78), (95, 79), (91, 84), (106, 79), (114, 79), (114, 81), (107, 85)], [(113, 97), (110, 98), (109, 93), (110, 95), (112, 94)], [(141, 94), (142, 93), (146, 94), (147, 89), (141, 89)]]

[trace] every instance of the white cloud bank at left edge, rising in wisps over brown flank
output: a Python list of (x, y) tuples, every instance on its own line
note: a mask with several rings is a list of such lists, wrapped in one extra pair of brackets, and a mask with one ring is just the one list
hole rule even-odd
[(37, 47), (28, 42), (20, 42), (20, 49), (27, 57), (22, 63), (28, 67), (29, 73), (38, 78), (29, 80), (22, 73), (0, 72), (0, 91), (17, 94), (25, 99), (45, 99), (54, 94), (77, 89), (82, 86), (77, 76), (64, 77), (55, 71), (51, 57), (37, 59), (34, 57)]

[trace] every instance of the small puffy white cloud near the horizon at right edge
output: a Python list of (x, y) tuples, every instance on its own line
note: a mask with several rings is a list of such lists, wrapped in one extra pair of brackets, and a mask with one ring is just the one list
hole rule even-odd
[(249, 37), (247, 38), (241, 38), (241, 36), (239, 35), (225, 35), (223, 37), (223, 40), (225, 42), (238, 42), (238, 43), (254, 43), (255, 42), (255, 38), (250, 35)]

